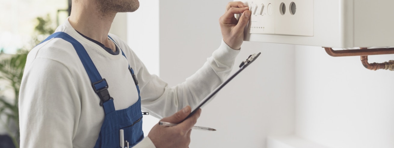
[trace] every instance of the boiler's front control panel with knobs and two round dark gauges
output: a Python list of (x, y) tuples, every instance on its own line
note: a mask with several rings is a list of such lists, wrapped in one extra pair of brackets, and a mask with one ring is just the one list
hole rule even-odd
[(313, 36), (313, 0), (244, 1), (252, 12), (247, 33)]

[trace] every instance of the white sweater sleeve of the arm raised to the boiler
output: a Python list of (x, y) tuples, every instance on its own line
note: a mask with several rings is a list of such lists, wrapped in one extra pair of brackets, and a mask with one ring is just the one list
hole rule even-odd
[[(169, 87), (158, 76), (151, 75), (143, 64), (138, 67), (142, 107), (151, 115), (163, 118), (183, 107), (197, 105), (218, 85), (226, 80), (239, 50), (231, 49), (223, 40), (217, 50), (195, 74), (174, 87)], [(136, 63), (139, 63), (136, 57)]]

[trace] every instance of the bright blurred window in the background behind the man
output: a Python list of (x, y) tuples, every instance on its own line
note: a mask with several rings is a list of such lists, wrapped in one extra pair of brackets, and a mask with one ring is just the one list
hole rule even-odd
[[(15, 54), (20, 48), (31, 48), (37, 17), (49, 15), (53, 27), (56, 27), (58, 10), (68, 8), (68, 0), (3, 0), (0, 6), (0, 50), (6, 54)], [(67, 11), (60, 11), (59, 22), (68, 16)]]

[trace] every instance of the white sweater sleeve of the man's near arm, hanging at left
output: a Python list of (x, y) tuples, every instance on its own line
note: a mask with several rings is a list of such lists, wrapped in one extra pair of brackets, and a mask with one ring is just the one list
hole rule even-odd
[(20, 87), (21, 148), (71, 148), (80, 102), (65, 65), (52, 59), (27, 64)]

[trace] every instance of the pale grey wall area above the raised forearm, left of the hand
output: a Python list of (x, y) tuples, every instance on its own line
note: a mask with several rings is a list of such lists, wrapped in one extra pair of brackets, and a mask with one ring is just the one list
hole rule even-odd
[[(228, 2), (160, 0), (160, 74), (169, 84), (182, 82), (184, 78), (180, 75), (190, 76), (197, 70), (175, 65), (191, 61), (202, 66), (206, 57), (219, 47), (219, 17)], [(170, 76), (169, 72), (176, 75)]]

